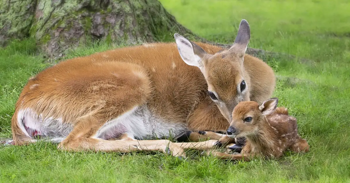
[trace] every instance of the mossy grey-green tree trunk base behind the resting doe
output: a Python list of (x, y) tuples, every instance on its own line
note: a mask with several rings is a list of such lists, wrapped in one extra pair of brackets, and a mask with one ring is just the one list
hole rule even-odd
[(34, 37), (51, 58), (93, 40), (137, 44), (172, 40), (175, 32), (200, 39), (177, 23), (158, 0), (3, 0), (2, 4), (3, 42)]

